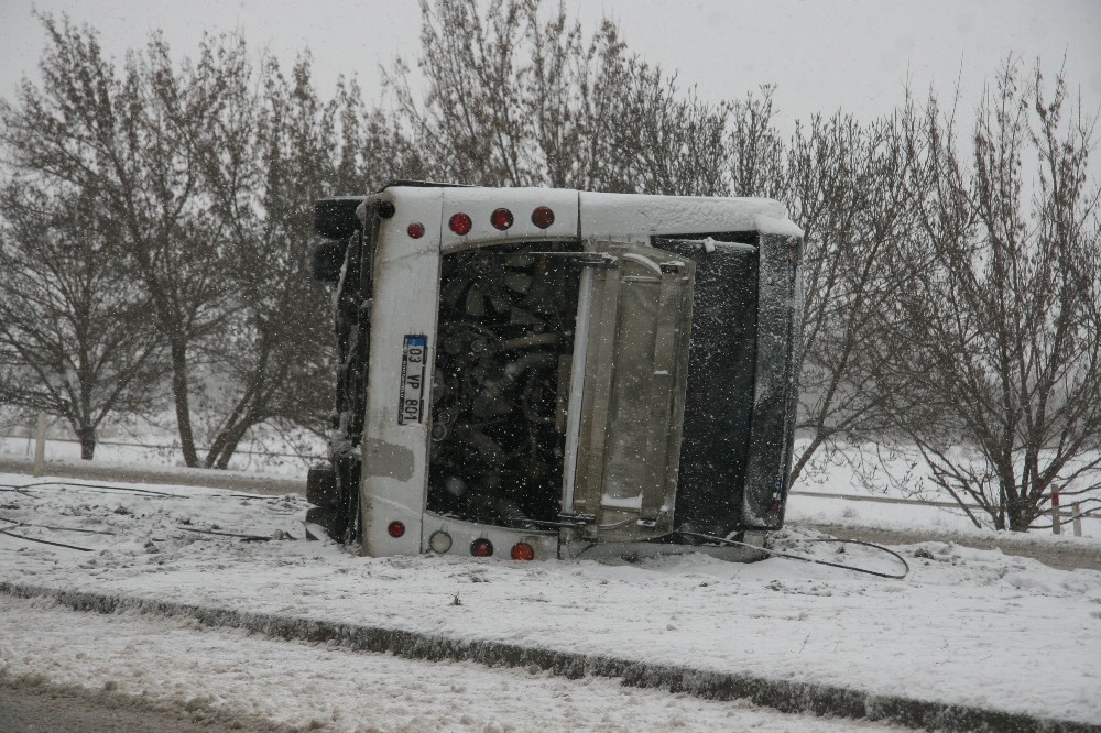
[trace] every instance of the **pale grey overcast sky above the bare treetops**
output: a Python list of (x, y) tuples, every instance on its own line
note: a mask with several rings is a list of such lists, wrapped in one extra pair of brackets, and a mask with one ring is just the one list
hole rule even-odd
[[(676, 69), (708, 100), (777, 85), (785, 121), (837, 109), (871, 118), (903, 98), (906, 79), (948, 96), (959, 79), (967, 107), (984, 79), (1015, 54), (1054, 74), (1064, 64), (1083, 107), (1101, 108), (1099, 0), (569, 0), (591, 30), (602, 14), (619, 22), (630, 48)], [(253, 47), (287, 62), (308, 47), (323, 92), (356, 73), (368, 99), (379, 65), (415, 58), (414, 0), (0, 0), (0, 95), (36, 76), (43, 33), (32, 9), (68, 13), (99, 30), (121, 58), (162, 29), (176, 53), (192, 53), (204, 30), (241, 31)], [(1049, 75), (1050, 75), (1049, 74)]]

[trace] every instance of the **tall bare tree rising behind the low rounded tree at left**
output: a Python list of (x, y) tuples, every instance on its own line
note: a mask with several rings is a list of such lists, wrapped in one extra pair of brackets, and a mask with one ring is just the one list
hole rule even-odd
[(196, 165), (239, 73), (239, 42), (203, 43), (179, 68), (154, 34), (117, 75), (96, 33), (42, 17), (50, 45), (43, 85), (24, 81), (0, 102), (0, 143), (9, 162), (43, 187), (97, 192), (116, 236), (116, 262), (150, 298), (168, 352), (184, 460), (198, 458), (192, 425), (195, 343), (226, 318), (224, 250)]

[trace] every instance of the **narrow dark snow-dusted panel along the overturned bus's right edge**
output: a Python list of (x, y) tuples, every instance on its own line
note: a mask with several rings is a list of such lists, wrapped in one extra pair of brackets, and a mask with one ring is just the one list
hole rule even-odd
[(798, 237), (761, 236), (756, 384), (742, 497), (746, 528), (778, 529), (787, 503), (803, 314), (799, 247)]

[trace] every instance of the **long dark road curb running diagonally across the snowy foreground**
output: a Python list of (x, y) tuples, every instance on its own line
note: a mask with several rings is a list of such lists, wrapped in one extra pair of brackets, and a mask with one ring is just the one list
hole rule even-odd
[(0, 593), (13, 598), (54, 599), (75, 611), (135, 611), (194, 619), (208, 626), (303, 642), (336, 642), (360, 652), (389, 653), (421, 660), (477, 661), (490, 667), (522, 667), (567, 678), (618, 677), (624, 685), (684, 692), (708, 700), (749, 699), (782, 712), (866, 719), (942, 731), (1013, 731), (1078, 733), (1101, 725), (1024, 713), (986, 710), (929, 700), (883, 696), (832, 685), (768, 679), (746, 674), (694, 669), (614, 657), (524, 647), (493, 641), (461, 641), (418, 632), (360, 626), (319, 619), (235, 611), (156, 599), (111, 595), (0, 581)]

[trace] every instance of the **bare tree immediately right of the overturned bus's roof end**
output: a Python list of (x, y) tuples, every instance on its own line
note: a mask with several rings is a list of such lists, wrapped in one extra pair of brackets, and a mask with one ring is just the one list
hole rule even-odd
[(795, 481), (820, 450), (887, 429), (874, 354), (883, 304), (906, 287), (898, 248), (913, 216), (898, 120), (868, 125), (841, 113), (798, 127), (788, 153), (793, 216), (805, 230), (803, 344), (796, 430), (807, 438)]

